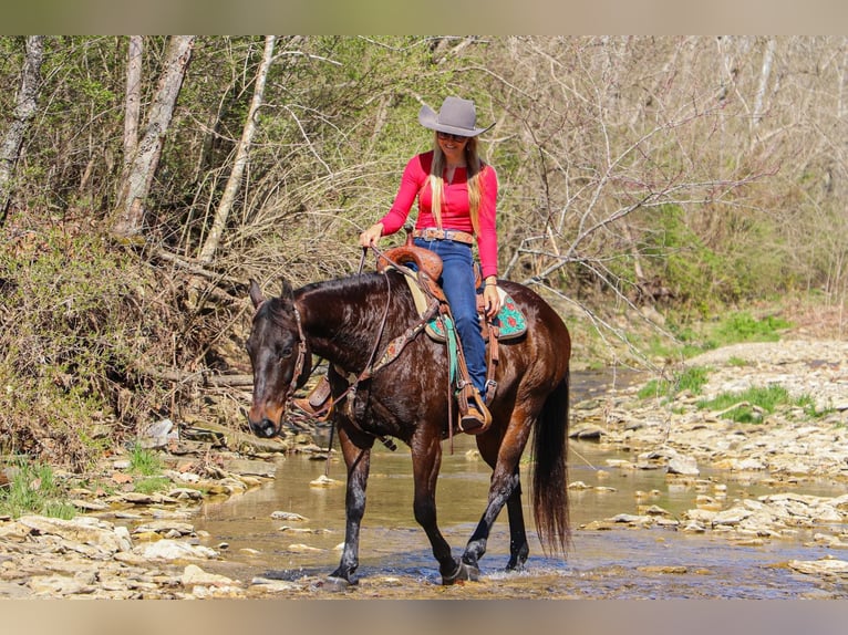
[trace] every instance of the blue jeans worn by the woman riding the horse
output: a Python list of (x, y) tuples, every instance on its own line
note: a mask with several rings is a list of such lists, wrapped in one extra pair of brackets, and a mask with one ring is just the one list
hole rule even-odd
[(474, 289), (474, 257), (470, 244), (453, 240), (415, 239), (416, 247), (423, 247), (442, 257), (442, 278), (438, 280), (445, 292), (456, 323), (456, 333), (465, 354), (472, 384), (486, 395), (486, 343), (483, 341), (477, 298)]

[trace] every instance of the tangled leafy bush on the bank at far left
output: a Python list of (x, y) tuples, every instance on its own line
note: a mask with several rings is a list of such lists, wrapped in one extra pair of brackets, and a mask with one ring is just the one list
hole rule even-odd
[(155, 342), (153, 281), (96, 233), (42, 226), (11, 246), (0, 254), (0, 451), (82, 470), (158, 394), (134, 368)]

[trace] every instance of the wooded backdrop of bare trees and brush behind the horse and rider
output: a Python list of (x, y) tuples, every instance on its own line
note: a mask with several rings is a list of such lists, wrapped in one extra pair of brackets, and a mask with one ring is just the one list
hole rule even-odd
[(448, 94), (495, 124), (500, 275), (555, 305), (576, 365), (663, 372), (714, 345), (704, 324), (799, 304), (844, 334), (846, 38), (3, 37), (0, 53), (3, 454), (81, 470), (163, 417), (242, 426), (247, 280), (354, 273), (358, 233), (432, 144), (418, 108)]

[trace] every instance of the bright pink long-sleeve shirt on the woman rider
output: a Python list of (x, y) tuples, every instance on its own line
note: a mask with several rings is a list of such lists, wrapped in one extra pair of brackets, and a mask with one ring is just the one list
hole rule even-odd
[[(415, 198), (418, 199), (416, 229), (436, 227), (433, 217), (433, 191), (430, 187), (430, 168), (433, 165), (433, 150), (416, 155), (410, 159), (401, 177), (401, 186), (394, 205), (380, 222), (383, 236), (394, 233), (403, 227), (410, 215)], [(480, 171), (479, 233), (477, 250), (484, 278), (497, 275), (497, 227), (495, 211), (497, 201), (497, 174), (490, 165), (484, 165)], [(468, 206), (467, 171), (456, 168), (453, 181), (445, 179), (442, 197), (442, 229), (455, 229), (474, 232)]]

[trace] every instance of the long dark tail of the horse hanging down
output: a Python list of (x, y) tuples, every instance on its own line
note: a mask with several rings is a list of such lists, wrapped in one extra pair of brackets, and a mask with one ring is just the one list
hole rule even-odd
[(548, 395), (536, 424), (532, 469), (532, 509), (542, 549), (565, 553), (570, 541), (568, 524), (569, 373)]

